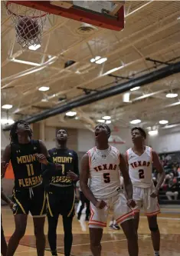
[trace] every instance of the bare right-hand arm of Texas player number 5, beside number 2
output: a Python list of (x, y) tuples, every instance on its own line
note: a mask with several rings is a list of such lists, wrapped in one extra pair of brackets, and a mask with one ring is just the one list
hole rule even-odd
[(119, 154), (119, 161), (119, 168), (123, 175), (124, 188), (126, 190), (128, 204), (129, 206), (134, 208), (136, 206), (136, 203), (135, 201), (133, 201), (133, 185), (129, 177), (129, 171), (127, 168), (126, 160), (122, 154)]

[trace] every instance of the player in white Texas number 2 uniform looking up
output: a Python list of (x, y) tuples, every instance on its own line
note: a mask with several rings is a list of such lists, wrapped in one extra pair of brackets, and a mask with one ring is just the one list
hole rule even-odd
[[(131, 133), (134, 146), (126, 151), (126, 159), (129, 165), (129, 176), (133, 183), (133, 198), (137, 203), (134, 208), (136, 230), (139, 226), (139, 211), (143, 208), (148, 218), (155, 256), (159, 256), (160, 233), (157, 214), (160, 209), (157, 196), (165, 178), (165, 171), (157, 153), (145, 145), (146, 132), (142, 128), (135, 127)], [(152, 163), (159, 172), (159, 181), (155, 187), (152, 182)]]

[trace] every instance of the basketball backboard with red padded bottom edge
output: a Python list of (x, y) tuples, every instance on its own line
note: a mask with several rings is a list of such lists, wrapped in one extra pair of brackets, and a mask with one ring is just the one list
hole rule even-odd
[(101, 28), (124, 28), (124, 1), (9, 1)]

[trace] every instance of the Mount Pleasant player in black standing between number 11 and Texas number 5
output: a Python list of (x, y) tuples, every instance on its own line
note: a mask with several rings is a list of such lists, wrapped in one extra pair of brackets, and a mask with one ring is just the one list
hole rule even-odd
[(48, 241), (52, 255), (57, 255), (57, 222), (59, 214), (64, 224), (64, 255), (70, 256), (73, 242), (74, 181), (79, 179), (77, 153), (67, 148), (67, 132), (57, 131), (57, 148), (49, 150), (51, 161), (62, 165), (61, 171), (51, 172), (47, 193)]

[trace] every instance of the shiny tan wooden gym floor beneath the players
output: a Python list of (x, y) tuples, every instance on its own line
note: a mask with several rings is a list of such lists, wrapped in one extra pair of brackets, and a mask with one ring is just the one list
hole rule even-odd
[[(83, 217), (83, 216), (82, 216)], [(57, 251), (59, 255), (64, 255), (64, 231), (61, 224), (61, 217), (57, 227)], [(15, 224), (11, 210), (8, 207), (2, 207), (2, 224), (5, 231), (5, 237), (8, 238), (14, 231)], [(108, 223), (109, 224), (109, 223)], [(162, 209), (159, 214), (159, 229), (161, 231), (161, 256), (179, 256), (180, 255), (180, 208)], [(90, 256), (90, 241), (87, 223), (77, 221), (74, 217), (73, 224), (74, 243), (72, 256)], [(47, 221), (45, 224), (45, 234), (47, 234)], [(104, 229), (103, 234), (104, 256), (128, 256), (126, 249), (126, 239), (123, 231), (112, 231), (109, 228)], [(28, 218), (28, 227), (25, 237), (21, 239), (18, 250), (15, 253), (18, 256), (34, 256), (36, 254), (33, 222), (31, 216)], [(46, 244), (45, 255), (51, 255), (49, 244)], [(139, 223), (139, 256), (153, 256), (152, 243), (147, 225), (146, 217), (142, 215)]]

